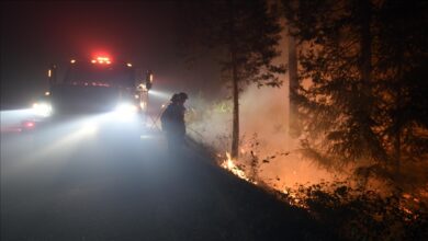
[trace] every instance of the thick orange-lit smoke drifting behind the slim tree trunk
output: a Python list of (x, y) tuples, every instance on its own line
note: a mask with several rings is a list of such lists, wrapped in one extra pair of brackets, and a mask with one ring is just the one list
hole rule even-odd
[[(248, 87), (240, 94), (240, 159), (238, 164), (258, 181), (275, 188), (295, 183), (317, 183), (333, 174), (319, 169), (299, 151), (299, 140), (289, 137), (288, 87)], [(189, 134), (215, 148), (219, 154), (229, 151), (232, 101), (207, 103), (201, 97), (189, 103)], [(251, 154), (252, 151), (252, 154)], [(251, 160), (257, 159), (255, 164)]]

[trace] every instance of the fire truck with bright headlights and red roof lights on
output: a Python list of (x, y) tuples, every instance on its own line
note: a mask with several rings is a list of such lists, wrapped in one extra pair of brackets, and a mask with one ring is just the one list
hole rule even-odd
[(24, 129), (92, 114), (143, 120), (154, 81), (150, 70), (105, 56), (52, 65), (47, 76), (48, 90), (33, 104), (35, 118), (26, 120)]

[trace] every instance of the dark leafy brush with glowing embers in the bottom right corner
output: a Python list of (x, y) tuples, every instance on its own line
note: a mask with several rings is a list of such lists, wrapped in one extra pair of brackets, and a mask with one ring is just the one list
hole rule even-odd
[(427, 204), (408, 194), (382, 196), (333, 182), (290, 188), (279, 196), (307, 208), (341, 240), (424, 240), (428, 236)]

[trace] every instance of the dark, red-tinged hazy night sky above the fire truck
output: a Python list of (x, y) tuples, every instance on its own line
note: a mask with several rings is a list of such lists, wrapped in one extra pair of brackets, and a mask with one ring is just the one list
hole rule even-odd
[(167, 1), (1, 3), (1, 107), (43, 93), (49, 64), (95, 53), (154, 70), (154, 89), (212, 93), (210, 67), (185, 68), (179, 55), (179, 9)]

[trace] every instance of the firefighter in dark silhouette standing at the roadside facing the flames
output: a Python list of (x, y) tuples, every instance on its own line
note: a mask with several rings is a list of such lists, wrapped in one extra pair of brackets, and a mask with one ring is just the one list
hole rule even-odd
[(187, 100), (187, 93), (173, 94), (170, 104), (160, 116), (162, 131), (166, 134), (168, 149), (171, 152), (182, 150), (185, 141), (184, 102)]

